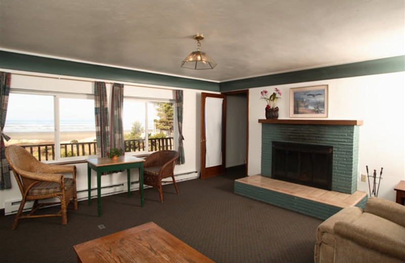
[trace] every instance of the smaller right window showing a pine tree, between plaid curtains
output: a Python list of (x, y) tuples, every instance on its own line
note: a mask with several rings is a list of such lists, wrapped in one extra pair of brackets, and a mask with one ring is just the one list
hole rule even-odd
[(124, 98), (126, 152), (174, 149), (173, 103)]

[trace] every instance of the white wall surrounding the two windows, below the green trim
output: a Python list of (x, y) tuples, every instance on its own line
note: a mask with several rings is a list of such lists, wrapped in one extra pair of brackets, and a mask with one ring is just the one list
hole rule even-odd
[[(50, 74), (37, 74), (32, 72), (22, 72), (6, 70), (12, 73), (11, 77), (11, 89), (22, 90), (41, 90), (41, 91), (56, 91), (56, 92), (68, 92), (68, 93), (82, 93), (93, 94), (94, 93), (94, 79), (74, 78), (66, 76), (60, 76), (61, 79), (54, 78), (54, 75)], [(13, 74), (15, 73), (15, 74)], [(23, 75), (27, 74), (27, 75)], [(63, 79), (70, 78), (70, 79)], [(109, 80), (97, 80), (112, 82)], [(116, 81), (119, 82), (119, 81)], [(125, 96), (136, 96), (142, 98), (161, 98), (161, 99), (173, 99), (173, 92), (171, 89), (154, 89), (153, 87), (139, 87), (134, 86), (133, 83), (125, 83), (124, 92)], [(107, 94), (111, 84), (107, 83)], [(176, 89), (173, 87), (173, 90)], [(183, 89), (183, 136), (184, 136), (184, 153), (185, 163), (182, 165), (176, 165), (175, 174), (178, 174), (177, 180), (188, 180), (199, 176), (200, 166), (200, 105), (201, 105), (201, 91)], [(175, 117), (176, 119), (177, 117)], [(177, 126), (176, 126), (177, 129)], [(175, 137), (175, 146), (177, 147), (178, 138)], [(177, 149), (177, 148), (176, 148)], [(77, 163), (77, 191), (87, 190), (87, 164)], [(197, 173), (192, 173), (197, 171)], [(190, 175), (180, 175), (187, 174)], [(131, 181), (138, 180), (138, 170), (131, 171)], [(126, 173), (114, 173), (110, 176), (102, 177), (102, 186), (115, 185), (124, 183), (126, 184)], [(96, 174), (92, 171), (92, 188), (96, 187)], [(0, 191), (0, 209), (5, 208), (5, 202), (21, 200), (21, 193), (18, 189), (17, 182), (13, 174), (11, 174), (12, 188)], [(126, 191), (126, 185), (123, 191)], [(181, 189), (179, 189), (181, 191)], [(158, 195), (158, 193), (156, 192)], [(92, 193), (96, 195), (96, 192)], [(86, 197), (87, 194), (83, 193), (82, 197)], [(80, 198), (80, 196), (78, 196)], [(135, 197), (134, 197), (135, 198)]]

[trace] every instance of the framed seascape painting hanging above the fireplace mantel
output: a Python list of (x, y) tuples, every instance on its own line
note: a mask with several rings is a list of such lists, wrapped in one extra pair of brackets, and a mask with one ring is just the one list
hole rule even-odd
[(290, 117), (328, 117), (328, 85), (290, 89)]

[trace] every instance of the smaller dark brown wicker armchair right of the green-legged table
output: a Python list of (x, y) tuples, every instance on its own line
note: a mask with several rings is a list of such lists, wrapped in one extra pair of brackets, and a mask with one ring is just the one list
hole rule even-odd
[[(176, 192), (179, 194), (179, 189), (177, 188), (177, 184), (174, 179), (174, 166), (178, 157), (179, 154), (176, 151), (164, 150), (154, 152), (145, 158), (145, 162), (143, 164), (143, 183), (159, 190), (161, 202), (163, 202), (161, 183), (173, 182)], [(168, 177), (171, 177), (172, 181), (162, 181)]]

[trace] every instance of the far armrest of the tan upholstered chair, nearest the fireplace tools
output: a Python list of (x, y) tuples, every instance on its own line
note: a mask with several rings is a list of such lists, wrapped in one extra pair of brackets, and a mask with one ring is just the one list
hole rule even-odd
[(371, 197), (367, 200), (365, 212), (383, 217), (405, 227), (405, 206), (389, 200)]

